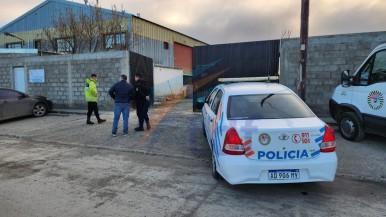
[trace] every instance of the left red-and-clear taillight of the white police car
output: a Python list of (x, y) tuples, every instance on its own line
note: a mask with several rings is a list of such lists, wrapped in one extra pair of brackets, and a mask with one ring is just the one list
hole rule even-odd
[(230, 154), (230, 155), (244, 154), (243, 143), (239, 137), (239, 134), (237, 134), (237, 131), (234, 128), (230, 128), (225, 134), (222, 151), (225, 154)]

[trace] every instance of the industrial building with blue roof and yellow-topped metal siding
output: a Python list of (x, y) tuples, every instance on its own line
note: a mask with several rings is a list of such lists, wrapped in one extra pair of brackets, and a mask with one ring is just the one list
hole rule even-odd
[[(53, 28), (53, 21), (68, 10), (79, 14), (89, 13), (91, 8), (66, 0), (46, 0), (0, 28), (0, 48), (70, 53), (63, 38), (55, 38), (55, 44), (51, 45), (43, 29)], [(111, 14), (112, 10), (102, 9), (102, 12)], [(127, 12), (121, 16), (124, 19), (120, 32), (106, 32), (99, 51), (129, 50), (152, 58), (156, 66), (182, 68), (184, 75), (191, 76), (193, 47), (206, 43)]]

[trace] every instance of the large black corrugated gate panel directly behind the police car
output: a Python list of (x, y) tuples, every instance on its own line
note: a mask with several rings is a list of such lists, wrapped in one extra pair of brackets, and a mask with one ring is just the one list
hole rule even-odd
[(218, 78), (277, 76), (279, 40), (193, 48), (193, 110), (219, 84)]

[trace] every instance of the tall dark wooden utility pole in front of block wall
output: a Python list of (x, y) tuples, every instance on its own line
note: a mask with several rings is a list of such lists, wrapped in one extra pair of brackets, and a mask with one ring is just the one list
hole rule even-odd
[(299, 58), (299, 86), (298, 93), (303, 101), (306, 101), (306, 72), (308, 49), (308, 17), (310, 15), (310, 0), (301, 0), (300, 22), (300, 58)]

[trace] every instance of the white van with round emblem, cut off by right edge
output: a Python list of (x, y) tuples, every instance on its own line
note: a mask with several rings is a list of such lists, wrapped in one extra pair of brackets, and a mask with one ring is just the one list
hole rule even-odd
[(354, 75), (343, 71), (329, 107), (342, 136), (351, 141), (366, 132), (386, 136), (386, 44), (376, 47)]

